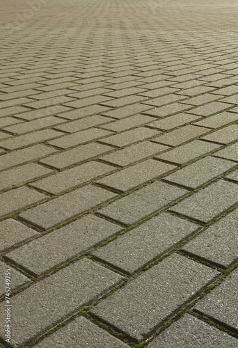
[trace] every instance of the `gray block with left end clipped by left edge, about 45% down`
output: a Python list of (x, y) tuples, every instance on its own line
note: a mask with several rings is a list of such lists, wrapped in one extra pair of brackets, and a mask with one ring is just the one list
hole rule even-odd
[(57, 150), (49, 147), (47, 148), (45, 145), (33, 145), (30, 148), (6, 153), (6, 155), (1, 156), (0, 171), (45, 157), (54, 152), (57, 152)]

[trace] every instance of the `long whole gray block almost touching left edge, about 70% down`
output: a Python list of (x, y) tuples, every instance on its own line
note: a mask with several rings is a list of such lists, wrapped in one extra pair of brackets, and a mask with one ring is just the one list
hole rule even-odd
[(120, 231), (122, 231), (120, 226), (97, 216), (87, 215), (24, 246), (19, 246), (15, 251), (7, 253), (4, 258), (33, 276), (42, 276), (86, 253), (90, 248), (112, 238)]

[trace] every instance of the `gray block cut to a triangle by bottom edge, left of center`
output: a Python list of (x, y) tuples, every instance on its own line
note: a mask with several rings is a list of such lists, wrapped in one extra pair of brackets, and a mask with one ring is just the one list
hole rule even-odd
[(85, 317), (77, 317), (67, 326), (59, 329), (35, 348), (129, 348), (124, 342), (113, 337)]

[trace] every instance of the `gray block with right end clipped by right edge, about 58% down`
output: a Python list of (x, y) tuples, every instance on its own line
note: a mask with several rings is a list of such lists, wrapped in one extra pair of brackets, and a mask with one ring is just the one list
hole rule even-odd
[(219, 180), (178, 203), (171, 211), (202, 223), (210, 223), (236, 205), (237, 197), (236, 184)]

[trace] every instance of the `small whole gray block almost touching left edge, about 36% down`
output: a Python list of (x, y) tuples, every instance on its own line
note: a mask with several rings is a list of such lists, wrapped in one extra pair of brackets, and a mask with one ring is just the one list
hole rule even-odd
[(58, 123), (62, 122), (66, 122), (66, 120), (54, 116), (47, 116), (29, 122), (22, 122), (19, 125), (8, 126), (3, 129), (14, 134), (24, 134), (27, 132), (33, 132), (35, 130), (51, 127), (53, 125), (58, 125)]

